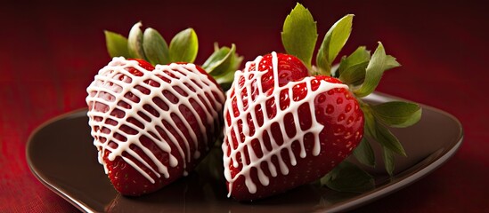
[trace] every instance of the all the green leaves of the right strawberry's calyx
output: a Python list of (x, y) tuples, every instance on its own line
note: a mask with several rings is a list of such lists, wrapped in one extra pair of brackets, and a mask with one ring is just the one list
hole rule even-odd
[[(360, 46), (336, 62), (352, 32), (353, 18), (353, 14), (347, 14), (328, 30), (317, 51), (315, 66), (312, 59), (317, 41), (316, 22), (302, 4), (297, 4), (285, 19), (281, 40), (285, 51), (301, 59), (312, 74), (334, 76), (349, 86), (360, 102), (365, 118), (364, 137), (355, 148), (353, 156), (358, 162), (375, 167), (371, 143), (379, 143), (385, 170), (392, 176), (395, 170), (395, 155), (407, 154), (401, 142), (389, 129), (405, 128), (420, 121), (421, 107), (403, 101), (378, 105), (363, 101), (362, 98), (375, 91), (385, 71), (401, 65), (394, 57), (386, 54), (384, 45), (380, 42), (373, 54), (365, 46)], [(373, 177), (350, 162), (341, 162), (328, 175), (322, 177), (320, 182), (342, 192), (363, 192), (375, 187)]]

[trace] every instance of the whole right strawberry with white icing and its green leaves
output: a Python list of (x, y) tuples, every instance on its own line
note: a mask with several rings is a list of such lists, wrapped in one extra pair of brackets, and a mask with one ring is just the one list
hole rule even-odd
[[(371, 106), (361, 99), (374, 91), (385, 70), (399, 66), (381, 43), (373, 55), (360, 47), (332, 68), (352, 19), (347, 15), (330, 28), (315, 67), (315, 22), (297, 4), (281, 34), (288, 54), (259, 56), (237, 71), (224, 104), (222, 148), (229, 196), (252, 201), (320, 178), (339, 191), (371, 188), (371, 176), (344, 162), (355, 153), (359, 162), (373, 165), (367, 138), (380, 143), (387, 172), (393, 173), (394, 154), (405, 153), (387, 126), (412, 125), (420, 118), (420, 107), (404, 102)], [(355, 175), (345, 175), (352, 170)], [(366, 180), (338, 179), (358, 174)]]

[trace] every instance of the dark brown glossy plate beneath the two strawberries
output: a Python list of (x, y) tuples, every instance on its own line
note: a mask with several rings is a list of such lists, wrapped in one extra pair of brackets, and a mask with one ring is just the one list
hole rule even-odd
[[(385, 102), (396, 98), (376, 93), (368, 99)], [(325, 187), (303, 185), (289, 193), (251, 203), (227, 198), (224, 180), (206, 168), (157, 193), (138, 198), (121, 196), (97, 162), (86, 110), (63, 114), (37, 128), (29, 138), (27, 160), (30, 170), (44, 185), (86, 212), (345, 211), (393, 193), (436, 170), (455, 154), (463, 138), (462, 127), (455, 117), (430, 106), (423, 106), (419, 123), (393, 131), (408, 157), (396, 158), (397, 173), (390, 180), (382, 166), (371, 170), (376, 178), (375, 189), (366, 193), (338, 193)], [(383, 164), (378, 162), (378, 165)]]

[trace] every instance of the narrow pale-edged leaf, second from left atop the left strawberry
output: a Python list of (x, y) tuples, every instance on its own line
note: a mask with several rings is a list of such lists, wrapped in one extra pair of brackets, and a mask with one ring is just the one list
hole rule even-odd
[(146, 59), (153, 66), (170, 63), (167, 41), (153, 28), (144, 30), (143, 51)]

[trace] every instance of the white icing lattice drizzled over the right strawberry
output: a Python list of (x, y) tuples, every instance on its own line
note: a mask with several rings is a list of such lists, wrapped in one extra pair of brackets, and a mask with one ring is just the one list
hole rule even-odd
[[(328, 83), (326, 81), (320, 81), (319, 88), (315, 91), (311, 90), (311, 82), (314, 81), (314, 76), (308, 76), (304, 79), (297, 82), (290, 82), (285, 85), (279, 86), (278, 81), (278, 58), (275, 52), (272, 52), (272, 63), (273, 63), (273, 77), (274, 77), (274, 89), (270, 95), (266, 95), (265, 91), (262, 90), (262, 82), (261, 76), (265, 75), (266, 72), (263, 70), (257, 70), (262, 57), (257, 57), (253, 62), (248, 62), (244, 71), (236, 71), (234, 75), (234, 82), (232, 84), (232, 90), (234, 90), (232, 95), (232, 90), (228, 91), (227, 99), (224, 103), (224, 116), (229, 114), (231, 116), (231, 122), (228, 122), (227, 119), (224, 119), (225, 127), (224, 127), (224, 143), (223, 143), (223, 152), (224, 152), (224, 177), (228, 182), (229, 193), (228, 197), (231, 196), (232, 193), (232, 183), (240, 176), (244, 177), (245, 185), (247, 186), (249, 193), (257, 192), (257, 184), (253, 183), (251, 178), (251, 169), (255, 168), (257, 170), (258, 180), (261, 185), (269, 185), (270, 177), (265, 175), (264, 170), (261, 169), (261, 164), (263, 162), (268, 166), (268, 170), (270, 170), (270, 174), (272, 177), (277, 177), (279, 172), (282, 175), (289, 174), (289, 167), (287, 163), (281, 157), (281, 151), (286, 149), (289, 153), (289, 164), (295, 166), (297, 164), (296, 156), (292, 150), (292, 143), (294, 141), (298, 141), (300, 144), (300, 154), (301, 158), (306, 157), (306, 148), (304, 145), (304, 137), (306, 134), (312, 133), (314, 135), (314, 148), (313, 155), (317, 156), (321, 152), (321, 145), (319, 140), (319, 134), (324, 128), (324, 126), (316, 121), (315, 110), (314, 110), (314, 99), (318, 94), (321, 94), (326, 91), (330, 91), (336, 88), (346, 88), (347, 86), (342, 83)], [(255, 64), (256, 70), (249, 70), (249, 67)], [(240, 78), (244, 78), (244, 83), (240, 86)], [(292, 88), (297, 84), (306, 83), (306, 88), (308, 88), (306, 97), (300, 100), (294, 100)], [(255, 99), (251, 99), (252, 86), (257, 87), (260, 91), (259, 95)], [(241, 95), (241, 92), (246, 90), (246, 94), (244, 97)], [(280, 107), (280, 94), (281, 91), (287, 91), (289, 96), (289, 106), (285, 109), (281, 109)], [(240, 112), (239, 116), (234, 116), (234, 111), (232, 107), (232, 99), (237, 99), (237, 110)], [(244, 107), (243, 100), (248, 101), (248, 106)], [(273, 99), (275, 102), (276, 115), (272, 118), (269, 118), (266, 110), (266, 100)], [(311, 128), (308, 130), (301, 130), (299, 115), (297, 110), (299, 106), (308, 105), (310, 109), (310, 114), (313, 116), (311, 121)], [(263, 111), (263, 124), (260, 126), (257, 122), (257, 106), (260, 106)], [(291, 113), (293, 115), (294, 122), (292, 123), (295, 126), (296, 134), (292, 137), (289, 137), (285, 130), (285, 123), (283, 122), (283, 118), (286, 114)], [(251, 115), (251, 120), (254, 128), (254, 132), (250, 131), (249, 122), (247, 116)], [(281, 137), (283, 138), (283, 144), (279, 145), (275, 141), (272, 136), (272, 124), (277, 123), (280, 126)], [(242, 134), (244, 135), (244, 140), (241, 141), (239, 126), (242, 125)], [(272, 145), (271, 151), (268, 151), (265, 147), (265, 141), (263, 139), (264, 134), (269, 135), (270, 142)], [(251, 134), (253, 133), (253, 134)], [(238, 146), (234, 146), (232, 142), (232, 135), (236, 138), (238, 142)], [(260, 149), (263, 153), (263, 156), (258, 157), (257, 153), (251, 146), (251, 142), (257, 140), (260, 145)], [(228, 155), (228, 152), (230, 154)], [(246, 161), (245, 155), (249, 154), (249, 163)], [(240, 156), (240, 158), (239, 158)], [(279, 162), (278, 170), (276, 168), (277, 165), (274, 165), (272, 162), (272, 157), (276, 156)], [(230, 166), (239, 167), (239, 164), (242, 164), (242, 169), (232, 176)]]

